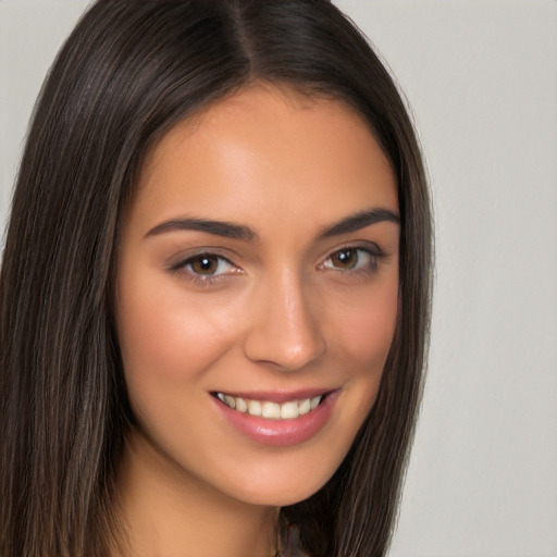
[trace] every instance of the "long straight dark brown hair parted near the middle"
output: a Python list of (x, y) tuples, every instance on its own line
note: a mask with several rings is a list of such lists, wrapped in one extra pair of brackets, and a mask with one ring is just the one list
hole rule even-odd
[(111, 317), (119, 215), (150, 148), (253, 82), (339, 99), (398, 180), (399, 314), (377, 400), (331, 481), (284, 508), (311, 556), (383, 556), (416, 422), (431, 214), (392, 78), (326, 0), (100, 0), (36, 106), (0, 275), (0, 555), (108, 556), (127, 421)]

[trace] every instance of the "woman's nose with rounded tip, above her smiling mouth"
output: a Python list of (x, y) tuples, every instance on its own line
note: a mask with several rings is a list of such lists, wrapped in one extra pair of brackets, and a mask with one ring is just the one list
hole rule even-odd
[(245, 337), (248, 359), (296, 371), (318, 360), (326, 349), (322, 323), (310, 285), (283, 273), (258, 293), (251, 326)]

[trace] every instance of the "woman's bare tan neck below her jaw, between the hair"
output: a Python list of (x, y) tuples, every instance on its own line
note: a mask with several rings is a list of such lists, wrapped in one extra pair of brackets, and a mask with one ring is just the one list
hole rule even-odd
[(127, 553), (134, 557), (271, 557), (278, 508), (230, 497), (166, 461), (133, 434), (120, 475)]

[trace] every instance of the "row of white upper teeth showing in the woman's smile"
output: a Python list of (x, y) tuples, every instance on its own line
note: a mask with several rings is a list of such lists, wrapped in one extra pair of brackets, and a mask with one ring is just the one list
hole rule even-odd
[(214, 393), (213, 396), (228, 408), (242, 413), (267, 418), (268, 420), (293, 420), (314, 410), (324, 400), (326, 394), (298, 400), (287, 400), (282, 404), (271, 400), (248, 399), (226, 393)]

